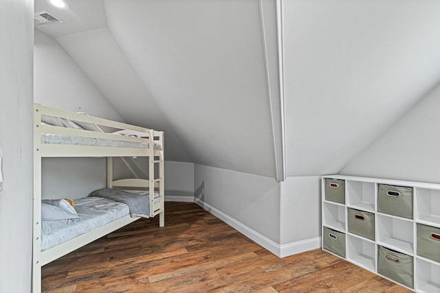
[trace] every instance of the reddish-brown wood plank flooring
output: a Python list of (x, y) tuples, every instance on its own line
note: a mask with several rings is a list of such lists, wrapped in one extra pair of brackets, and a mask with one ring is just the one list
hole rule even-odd
[(43, 266), (43, 292), (410, 292), (323, 250), (280, 259), (188, 202)]

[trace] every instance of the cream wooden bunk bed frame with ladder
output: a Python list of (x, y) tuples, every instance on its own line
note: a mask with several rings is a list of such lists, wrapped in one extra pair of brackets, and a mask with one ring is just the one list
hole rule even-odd
[[(42, 117), (46, 122), (49, 119), (52, 125), (42, 122)], [(71, 128), (72, 121), (84, 129)], [(100, 128), (111, 132), (101, 132)], [(41, 292), (41, 266), (140, 219), (124, 215), (118, 220), (41, 251), (41, 159), (105, 156), (107, 188), (148, 195), (148, 216), (159, 215), (159, 226), (164, 226), (164, 132), (34, 104), (32, 292)], [(148, 157), (149, 178), (113, 180), (114, 156)]]

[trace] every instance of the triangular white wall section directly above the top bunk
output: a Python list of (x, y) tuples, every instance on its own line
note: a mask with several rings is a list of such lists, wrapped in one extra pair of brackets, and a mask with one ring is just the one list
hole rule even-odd
[(39, 30), (34, 40), (34, 102), (124, 121), (63, 47)]

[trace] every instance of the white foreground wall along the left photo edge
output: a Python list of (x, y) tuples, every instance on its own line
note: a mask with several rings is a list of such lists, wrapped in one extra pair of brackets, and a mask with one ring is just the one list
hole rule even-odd
[(0, 1), (0, 292), (30, 292), (34, 1)]

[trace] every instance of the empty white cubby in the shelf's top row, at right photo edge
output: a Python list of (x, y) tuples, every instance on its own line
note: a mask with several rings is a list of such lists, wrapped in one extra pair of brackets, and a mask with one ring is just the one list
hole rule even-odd
[(416, 188), (416, 219), (440, 227), (440, 190)]

